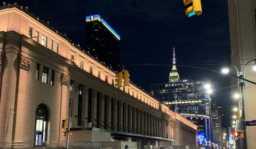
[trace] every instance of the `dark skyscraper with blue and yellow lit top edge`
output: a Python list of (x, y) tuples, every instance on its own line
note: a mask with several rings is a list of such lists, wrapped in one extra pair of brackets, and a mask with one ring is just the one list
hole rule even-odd
[(120, 69), (120, 36), (101, 19), (100, 15), (86, 17), (86, 51), (114, 71)]

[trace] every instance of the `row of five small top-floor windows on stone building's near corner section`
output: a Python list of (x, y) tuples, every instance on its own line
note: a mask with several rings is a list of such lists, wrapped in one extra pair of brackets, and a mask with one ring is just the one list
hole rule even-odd
[[(32, 27), (29, 27), (29, 30), (28, 30), (28, 37), (29, 38), (33, 38), (35, 39), (37, 42), (39, 42), (39, 31), (36, 30), (35, 32), (35, 37), (33, 37), (33, 28)], [(45, 36), (44, 34), (42, 34), (42, 42), (41, 44), (45, 47), (48, 47), (47, 45), (47, 36)], [(53, 40), (50, 39), (50, 45), (49, 45), (49, 48), (51, 50), (53, 50)], [(55, 49), (54, 49), (55, 52), (59, 52), (59, 43), (58, 42), (55, 42)]]

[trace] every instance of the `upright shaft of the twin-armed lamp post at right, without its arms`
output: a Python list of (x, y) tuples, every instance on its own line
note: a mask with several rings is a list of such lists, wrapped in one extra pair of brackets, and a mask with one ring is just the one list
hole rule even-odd
[[(244, 74), (242, 74), (242, 73), (239, 74), (239, 75), (240, 75), (241, 78), (244, 77)], [(245, 107), (244, 107), (244, 86), (245, 86), (244, 80), (239, 79), (238, 85), (239, 85), (240, 90), (241, 90), (241, 102), (240, 102), (240, 104), (242, 104), (241, 105), (242, 107), (240, 106), (240, 108), (242, 109), (242, 118), (241, 118), (240, 122), (243, 126), (242, 129), (244, 131), (244, 138), (243, 138), (244, 139), (244, 144), (243, 144), (243, 146), (244, 146), (245, 149), (247, 149), (246, 119), (245, 119)]]

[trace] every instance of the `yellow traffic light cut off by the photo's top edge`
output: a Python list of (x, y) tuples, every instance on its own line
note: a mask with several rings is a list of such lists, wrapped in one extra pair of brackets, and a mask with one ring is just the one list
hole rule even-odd
[(185, 6), (190, 4), (185, 10), (186, 15), (202, 14), (201, 0), (183, 0), (183, 3)]

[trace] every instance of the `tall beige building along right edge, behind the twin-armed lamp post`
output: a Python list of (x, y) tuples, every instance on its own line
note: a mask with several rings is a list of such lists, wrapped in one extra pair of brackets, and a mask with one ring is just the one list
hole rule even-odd
[[(231, 62), (234, 63), (239, 72), (249, 60), (256, 58), (256, 22), (255, 22), (255, 0), (229, 0), (229, 30), (230, 30), (230, 46), (231, 46)], [(250, 64), (253, 64), (251, 62)], [(236, 74), (233, 68), (233, 74)], [(256, 82), (255, 72), (252, 65), (247, 65), (245, 76), (247, 80)], [(231, 78), (231, 85), (237, 85), (237, 79)], [(233, 87), (233, 91), (238, 87)], [(249, 82), (245, 82), (244, 103), (246, 120), (256, 119), (256, 86)], [(233, 106), (238, 107), (238, 103), (234, 102)], [(256, 127), (246, 127), (247, 146), (253, 149), (256, 146)], [(238, 144), (239, 145), (239, 144)]]

